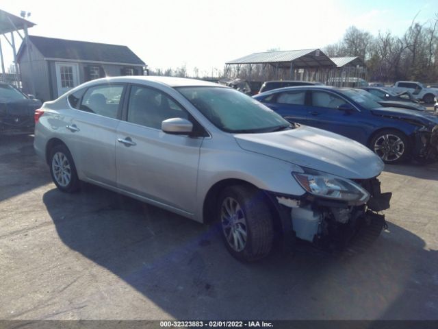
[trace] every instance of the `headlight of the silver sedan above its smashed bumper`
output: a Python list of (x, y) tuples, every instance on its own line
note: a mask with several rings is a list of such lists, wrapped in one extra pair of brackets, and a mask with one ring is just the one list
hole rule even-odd
[(370, 199), (370, 193), (359, 184), (329, 173), (311, 171), (292, 175), (302, 188), (317, 197), (348, 202), (352, 206), (365, 204)]

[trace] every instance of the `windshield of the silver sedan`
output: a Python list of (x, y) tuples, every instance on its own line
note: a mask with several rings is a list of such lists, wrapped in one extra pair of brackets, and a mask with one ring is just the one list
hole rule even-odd
[(231, 88), (179, 87), (177, 90), (224, 132), (274, 132), (292, 127), (259, 101)]

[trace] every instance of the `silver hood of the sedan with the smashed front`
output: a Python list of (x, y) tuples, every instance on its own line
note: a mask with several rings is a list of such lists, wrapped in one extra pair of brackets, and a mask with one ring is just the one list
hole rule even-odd
[(350, 138), (304, 125), (283, 132), (235, 134), (235, 140), (246, 151), (343, 178), (373, 178), (384, 167), (376, 154)]

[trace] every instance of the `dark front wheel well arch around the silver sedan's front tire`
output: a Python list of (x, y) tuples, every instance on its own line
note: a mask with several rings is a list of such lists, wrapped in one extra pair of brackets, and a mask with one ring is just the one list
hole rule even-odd
[[(215, 216), (214, 216), (214, 210), (216, 208), (216, 202), (218, 200), (218, 197), (220, 195), (220, 193), (223, 191), (224, 188), (227, 188), (228, 186), (233, 186), (233, 185), (246, 185), (246, 186), (251, 186), (253, 188), (257, 188), (257, 186), (255, 186), (254, 184), (250, 184), (244, 180), (237, 180), (237, 179), (228, 179), (228, 180), (221, 180), (220, 182), (217, 182), (216, 184), (214, 184), (213, 186), (211, 186), (211, 188), (209, 189), (209, 191), (207, 192), (207, 196), (205, 197), (204, 200), (204, 205), (203, 205), (203, 221), (204, 223), (213, 223), (215, 220)], [(263, 199), (266, 200), (269, 210), (272, 214), (272, 220), (274, 221), (274, 230), (276, 232), (280, 232), (281, 231), (281, 219), (280, 219), (280, 215), (278, 213), (278, 211), (276, 210), (274, 204), (272, 204), (272, 199), (270, 197), (268, 197), (268, 195), (266, 195), (266, 192), (263, 190), (260, 190), (259, 188), (257, 188), (259, 191), (261, 191), (261, 193), (263, 193), (263, 195), (265, 197), (263, 197)]]

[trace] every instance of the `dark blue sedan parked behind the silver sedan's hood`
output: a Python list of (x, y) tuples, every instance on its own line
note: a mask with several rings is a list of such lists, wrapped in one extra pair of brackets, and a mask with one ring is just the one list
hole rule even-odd
[(370, 147), (386, 163), (438, 159), (438, 117), (383, 108), (351, 88), (287, 87), (254, 96), (287, 121), (329, 130)]

